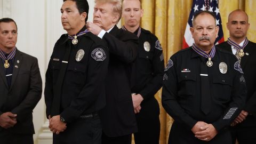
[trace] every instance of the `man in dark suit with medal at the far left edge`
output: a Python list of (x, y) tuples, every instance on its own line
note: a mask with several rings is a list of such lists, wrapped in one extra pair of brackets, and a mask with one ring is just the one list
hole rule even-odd
[(35, 57), (15, 46), (17, 25), (0, 19), (0, 141), (34, 143), (32, 111), (41, 99), (42, 79)]

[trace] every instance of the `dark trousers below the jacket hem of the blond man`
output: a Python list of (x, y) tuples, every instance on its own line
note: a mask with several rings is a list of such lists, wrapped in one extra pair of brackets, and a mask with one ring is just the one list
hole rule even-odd
[(131, 144), (132, 134), (123, 135), (119, 137), (108, 137), (102, 132), (102, 144)]

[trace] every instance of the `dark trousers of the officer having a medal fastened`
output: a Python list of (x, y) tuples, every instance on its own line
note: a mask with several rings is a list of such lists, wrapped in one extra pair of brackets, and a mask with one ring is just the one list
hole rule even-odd
[(101, 144), (101, 133), (99, 116), (77, 119), (64, 132), (53, 134), (53, 144)]

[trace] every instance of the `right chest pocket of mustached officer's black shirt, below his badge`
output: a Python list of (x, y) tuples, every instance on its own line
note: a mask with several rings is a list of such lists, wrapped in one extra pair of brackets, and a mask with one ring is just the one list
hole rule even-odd
[(215, 75), (213, 77), (213, 97), (215, 99), (221, 100), (222, 102), (230, 101), (232, 87), (233, 82), (228, 75)]

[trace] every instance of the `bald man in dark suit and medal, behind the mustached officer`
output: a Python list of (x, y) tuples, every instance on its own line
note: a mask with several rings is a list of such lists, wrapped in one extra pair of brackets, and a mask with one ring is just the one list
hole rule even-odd
[(248, 15), (244, 11), (231, 12), (227, 22), (230, 37), (227, 42), (218, 45), (220, 49), (236, 55), (244, 71), (247, 87), (246, 105), (231, 125), (233, 143), (237, 139), (239, 144), (256, 142), (256, 44), (246, 37), (249, 26)]

